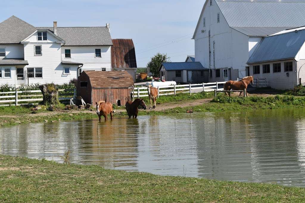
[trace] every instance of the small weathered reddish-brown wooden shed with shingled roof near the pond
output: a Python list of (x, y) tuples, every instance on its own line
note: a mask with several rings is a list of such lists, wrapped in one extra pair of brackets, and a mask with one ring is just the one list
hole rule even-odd
[(132, 76), (126, 71), (83, 71), (77, 79), (77, 96), (86, 103), (100, 100), (125, 105), (134, 89)]

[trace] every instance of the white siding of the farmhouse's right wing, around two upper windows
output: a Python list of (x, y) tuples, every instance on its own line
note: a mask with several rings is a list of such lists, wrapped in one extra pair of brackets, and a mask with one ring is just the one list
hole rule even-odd
[[(84, 69), (106, 68), (111, 71), (111, 46), (63, 46), (62, 60), (83, 63)], [(71, 50), (71, 58), (65, 58), (65, 49)], [(95, 58), (95, 49), (101, 49), (101, 58)]]

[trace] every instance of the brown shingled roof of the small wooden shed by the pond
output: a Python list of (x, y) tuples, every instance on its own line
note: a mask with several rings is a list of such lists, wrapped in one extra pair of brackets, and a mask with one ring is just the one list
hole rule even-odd
[(94, 88), (129, 88), (134, 80), (127, 71), (83, 71), (90, 79), (91, 87)]

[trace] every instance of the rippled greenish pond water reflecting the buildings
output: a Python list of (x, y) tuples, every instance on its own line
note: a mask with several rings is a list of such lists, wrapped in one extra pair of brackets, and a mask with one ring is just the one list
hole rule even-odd
[(305, 109), (115, 117), (0, 129), (0, 153), (109, 169), (305, 186)]

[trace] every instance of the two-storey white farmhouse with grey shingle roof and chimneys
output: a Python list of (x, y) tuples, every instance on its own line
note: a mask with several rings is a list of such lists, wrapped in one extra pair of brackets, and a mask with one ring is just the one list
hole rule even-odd
[(34, 27), (11, 16), (0, 23), (0, 85), (67, 83), (82, 70), (111, 71), (105, 27)]

